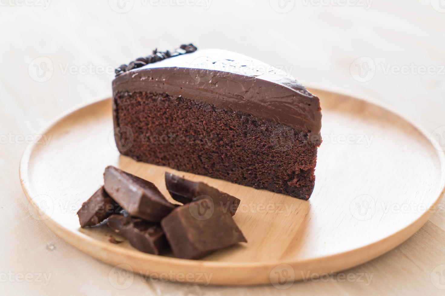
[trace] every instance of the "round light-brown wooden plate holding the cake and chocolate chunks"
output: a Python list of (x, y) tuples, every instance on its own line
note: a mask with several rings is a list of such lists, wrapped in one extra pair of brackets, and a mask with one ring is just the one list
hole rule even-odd
[(321, 99), (324, 142), (309, 201), (184, 173), (241, 199), (234, 218), (247, 244), (203, 260), (183, 260), (141, 253), (127, 242), (111, 244), (113, 233), (105, 226), (79, 227), (76, 212), (103, 183), (108, 165), (154, 182), (170, 197), (163, 176), (174, 170), (117, 152), (110, 99), (61, 117), (25, 151), (20, 179), (29, 208), (83, 252), (169, 280), (282, 287), (364, 263), (396, 247), (427, 221), (444, 192), (444, 154), (434, 148), (429, 134), (383, 107), (312, 91)]

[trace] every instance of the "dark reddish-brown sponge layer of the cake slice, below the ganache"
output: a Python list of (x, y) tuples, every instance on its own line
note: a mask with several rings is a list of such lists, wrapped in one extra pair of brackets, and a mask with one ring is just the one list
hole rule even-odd
[(117, 92), (121, 154), (138, 161), (308, 199), (317, 145), (297, 130), (181, 96)]

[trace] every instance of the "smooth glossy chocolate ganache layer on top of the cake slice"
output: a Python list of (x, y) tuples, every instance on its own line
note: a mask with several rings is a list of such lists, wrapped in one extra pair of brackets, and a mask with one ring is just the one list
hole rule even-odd
[(113, 96), (135, 91), (181, 95), (244, 111), (295, 127), (307, 132), (311, 142), (321, 143), (320, 100), (284, 71), (235, 52), (204, 49), (177, 55), (113, 80)]

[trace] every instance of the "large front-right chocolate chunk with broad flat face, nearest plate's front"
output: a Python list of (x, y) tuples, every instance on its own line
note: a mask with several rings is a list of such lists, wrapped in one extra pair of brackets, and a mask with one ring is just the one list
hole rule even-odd
[(206, 198), (174, 209), (161, 225), (174, 256), (184, 259), (198, 259), (247, 242), (233, 218)]

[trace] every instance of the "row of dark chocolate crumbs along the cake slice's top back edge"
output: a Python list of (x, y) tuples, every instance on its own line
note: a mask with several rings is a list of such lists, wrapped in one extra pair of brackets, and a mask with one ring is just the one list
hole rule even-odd
[(163, 59), (171, 58), (178, 55), (183, 55), (190, 52), (195, 52), (198, 47), (194, 46), (192, 43), (182, 44), (179, 48), (175, 49), (173, 52), (170, 51), (158, 51), (156, 48), (151, 55), (146, 57), (140, 57), (131, 61), (128, 65), (122, 64), (116, 69), (114, 69), (115, 77), (136, 68), (145, 66), (146, 64), (156, 63), (162, 61)]

